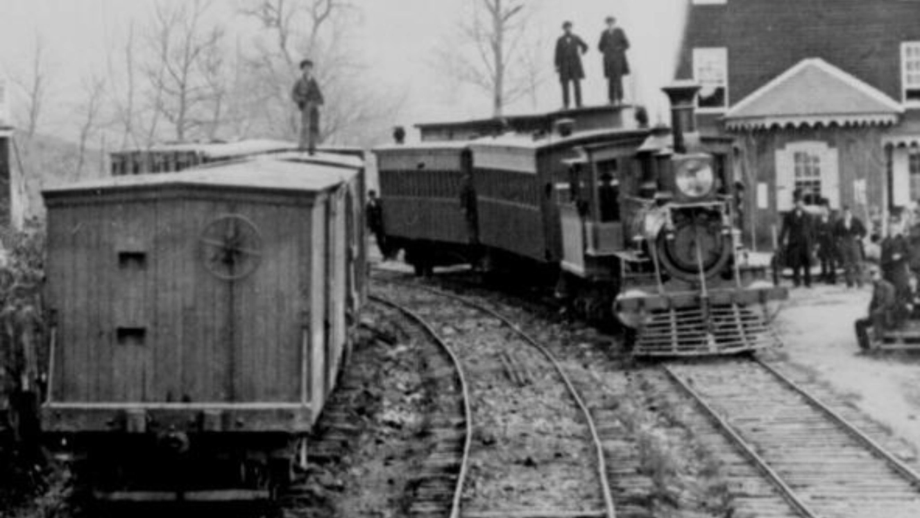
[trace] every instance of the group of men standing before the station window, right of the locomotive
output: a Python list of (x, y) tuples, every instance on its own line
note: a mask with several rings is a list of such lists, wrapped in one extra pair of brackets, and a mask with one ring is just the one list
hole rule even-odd
[(825, 203), (816, 217), (806, 211), (803, 198), (796, 197), (779, 235), (782, 262), (792, 269), (792, 283), (799, 286), (804, 281), (811, 287), (812, 259), (817, 259), (823, 282), (837, 282), (839, 265), (844, 268), (847, 287), (862, 287), (862, 240), (866, 234), (866, 226), (849, 207), (844, 206), (840, 217), (834, 218)]

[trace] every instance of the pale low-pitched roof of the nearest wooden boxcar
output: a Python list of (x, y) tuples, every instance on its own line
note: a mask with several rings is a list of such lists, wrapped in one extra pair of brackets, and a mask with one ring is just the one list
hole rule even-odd
[(257, 157), (186, 169), (178, 173), (96, 178), (49, 187), (42, 193), (47, 197), (87, 191), (146, 190), (162, 187), (320, 192), (348, 181), (362, 167), (360, 164), (343, 164), (344, 160), (341, 160), (340, 156), (335, 157), (340, 162), (327, 163), (323, 161), (323, 157), (317, 157), (314, 161), (308, 160), (306, 155), (295, 155), (298, 155), (296, 159), (281, 159), (277, 156)]

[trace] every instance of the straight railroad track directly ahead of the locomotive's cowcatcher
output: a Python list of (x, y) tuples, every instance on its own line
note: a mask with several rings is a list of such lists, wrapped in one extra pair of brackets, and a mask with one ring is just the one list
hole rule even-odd
[(920, 516), (920, 476), (770, 364), (663, 369), (794, 512), (772, 515)]

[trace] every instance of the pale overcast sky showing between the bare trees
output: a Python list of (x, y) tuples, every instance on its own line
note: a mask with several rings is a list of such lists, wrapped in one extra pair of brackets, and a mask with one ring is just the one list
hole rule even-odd
[[(172, 0), (181, 1), (181, 0)], [(218, 0), (215, 17), (238, 26), (236, 8), (242, 0)], [(362, 8), (356, 21), (355, 52), (368, 63), (368, 81), (381, 88), (407, 92), (400, 121), (420, 121), (490, 114), (489, 96), (472, 88), (456, 87), (439, 78), (432, 65), (433, 49), (454, 29), (465, 3), (472, 0), (353, 0)], [(546, 67), (550, 80), (542, 87), (536, 109), (558, 109), (558, 83), (552, 73), (553, 45), (563, 20), (574, 22), (575, 32), (591, 46), (584, 62), (585, 102), (605, 100), (604, 78), (596, 44), (604, 17), (615, 15), (632, 42), (629, 59), (635, 73), (627, 79), (627, 96), (649, 106), (652, 118), (663, 117), (665, 103), (659, 88), (673, 75), (685, 4), (689, 0), (542, 0), (532, 29), (545, 35)], [(0, 67), (7, 75), (29, 66), (36, 34), (46, 41), (54, 63), (50, 109), (45, 132), (63, 134), (68, 104), (76, 102), (81, 74), (105, 70), (106, 48), (119, 41), (132, 19), (141, 20), (153, 0), (0, 0)], [(16, 98), (13, 98), (16, 102)], [(510, 111), (532, 111), (530, 101)]]

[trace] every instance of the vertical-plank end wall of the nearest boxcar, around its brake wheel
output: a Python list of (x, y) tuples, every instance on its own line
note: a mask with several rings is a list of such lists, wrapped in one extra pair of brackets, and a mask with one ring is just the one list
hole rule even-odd
[[(235, 282), (206, 271), (197, 239), (224, 213), (245, 215), (261, 233), (259, 267)], [(311, 285), (323, 281), (323, 233), (315, 235), (323, 224), (294, 204), (219, 195), (54, 207), (53, 399), (298, 401), (306, 315), (314, 317), (315, 343), (324, 338), (324, 311), (316, 310), (323, 294)], [(343, 279), (337, 272), (335, 282)], [(321, 348), (307, 368), (322, 373)]]

